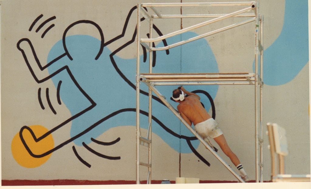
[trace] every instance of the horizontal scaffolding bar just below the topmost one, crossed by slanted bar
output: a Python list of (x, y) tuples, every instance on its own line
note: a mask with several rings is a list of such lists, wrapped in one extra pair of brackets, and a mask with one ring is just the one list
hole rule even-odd
[[(152, 18), (216, 18), (225, 14), (172, 14), (172, 15), (150, 15)], [(255, 14), (238, 14), (233, 17), (255, 17)]]

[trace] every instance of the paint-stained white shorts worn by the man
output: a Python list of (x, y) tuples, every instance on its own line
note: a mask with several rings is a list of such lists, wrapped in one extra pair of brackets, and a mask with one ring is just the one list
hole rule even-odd
[(206, 137), (215, 138), (223, 134), (213, 118), (194, 125), (194, 129), (203, 139)]

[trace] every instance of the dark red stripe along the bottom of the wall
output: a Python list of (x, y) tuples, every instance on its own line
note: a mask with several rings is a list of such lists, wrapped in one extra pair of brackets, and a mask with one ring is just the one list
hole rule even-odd
[[(161, 184), (161, 180), (152, 180), (152, 184)], [(170, 181), (175, 184), (175, 181)], [(237, 181), (200, 181), (200, 183), (234, 183)], [(255, 181), (251, 181), (255, 182)], [(271, 182), (271, 181), (265, 181)], [(146, 184), (147, 181), (141, 181)], [(57, 186), (57, 185), (113, 185), (113, 184), (136, 184), (136, 181), (89, 181), (89, 180), (2, 180), (2, 186)]]

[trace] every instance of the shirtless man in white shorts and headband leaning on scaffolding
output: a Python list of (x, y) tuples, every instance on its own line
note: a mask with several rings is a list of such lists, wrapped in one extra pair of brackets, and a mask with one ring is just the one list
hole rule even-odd
[[(185, 97), (188, 95), (188, 97)], [(220, 146), (221, 150), (230, 158), (231, 162), (241, 173), (241, 177), (245, 182), (248, 182), (248, 176), (240, 163), (239, 158), (231, 151), (226, 139), (218, 127), (216, 121), (207, 113), (200, 102), (200, 97), (193, 93), (186, 91), (183, 86), (178, 87), (173, 91), (173, 100), (178, 102), (177, 110), (180, 116), (200, 135), (208, 144), (210, 144), (207, 137), (213, 138)]]

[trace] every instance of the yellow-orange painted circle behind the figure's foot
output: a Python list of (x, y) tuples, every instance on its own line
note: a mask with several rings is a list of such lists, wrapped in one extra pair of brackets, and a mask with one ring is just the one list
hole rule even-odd
[[(49, 131), (44, 126), (41, 126), (41, 125), (32, 125), (30, 126), (30, 129), (34, 132), (37, 138), (44, 135), (46, 132)], [(30, 132), (25, 129), (23, 130), (23, 138), (33, 154), (43, 154), (49, 151), (50, 149), (53, 149), (54, 147), (54, 141), (53, 141), (52, 135), (48, 135), (47, 137), (40, 140), (39, 142), (35, 142)], [(11, 150), (12, 150), (12, 155), (15, 161), (19, 165), (26, 167), (26, 168), (39, 167), (42, 164), (44, 164), (52, 155), (51, 153), (42, 158), (32, 157), (28, 153), (28, 151), (25, 149), (24, 144), (21, 142), (19, 133), (17, 133), (12, 139)]]

